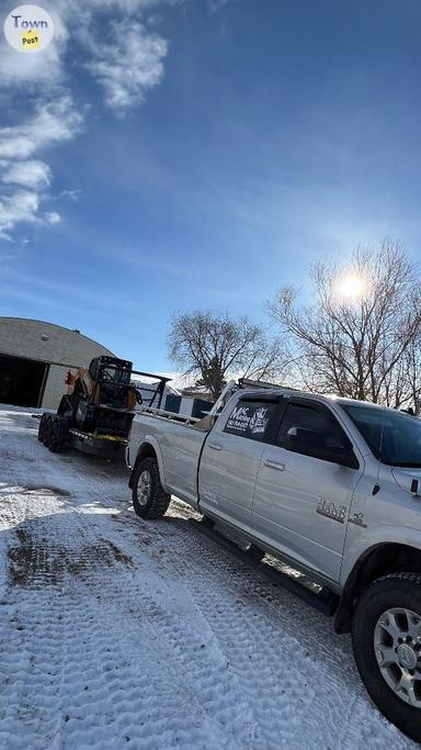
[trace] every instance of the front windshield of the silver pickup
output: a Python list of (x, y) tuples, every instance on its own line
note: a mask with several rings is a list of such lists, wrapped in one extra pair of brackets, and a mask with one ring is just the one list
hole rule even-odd
[(421, 467), (421, 419), (375, 406), (341, 404), (383, 463)]

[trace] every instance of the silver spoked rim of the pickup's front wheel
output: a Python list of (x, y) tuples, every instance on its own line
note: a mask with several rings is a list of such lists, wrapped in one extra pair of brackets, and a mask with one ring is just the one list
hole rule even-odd
[(421, 615), (402, 607), (384, 612), (374, 629), (374, 651), (388, 686), (421, 708)]

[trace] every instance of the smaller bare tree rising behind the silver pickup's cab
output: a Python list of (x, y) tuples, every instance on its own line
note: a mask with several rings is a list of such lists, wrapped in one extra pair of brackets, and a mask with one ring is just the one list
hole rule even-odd
[(197, 374), (213, 399), (218, 398), (229, 374), (273, 379), (283, 360), (278, 343), (269, 342), (261, 326), (247, 316), (236, 320), (210, 310), (173, 317), (169, 352), (177, 365), (187, 368), (184, 374)]

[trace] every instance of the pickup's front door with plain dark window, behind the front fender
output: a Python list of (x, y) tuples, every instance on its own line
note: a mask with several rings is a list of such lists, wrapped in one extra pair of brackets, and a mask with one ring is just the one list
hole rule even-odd
[(301, 566), (339, 581), (348, 515), (362, 474), (350, 438), (319, 402), (293, 398), (265, 445), (252, 533)]

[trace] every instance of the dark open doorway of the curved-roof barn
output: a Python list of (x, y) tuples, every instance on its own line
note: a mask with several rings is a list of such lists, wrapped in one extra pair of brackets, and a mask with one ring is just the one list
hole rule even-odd
[(48, 367), (35, 359), (0, 355), (0, 403), (41, 406)]

